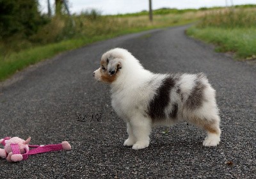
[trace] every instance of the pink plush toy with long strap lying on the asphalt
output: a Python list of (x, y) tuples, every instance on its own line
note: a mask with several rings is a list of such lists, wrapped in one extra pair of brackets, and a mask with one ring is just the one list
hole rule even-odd
[[(58, 150), (71, 150), (70, 144), (67, 141), (61, 144), (49, 144), (49, 145), (29, 145), (30, 137), (24, 141), (19, 137), (5, 137), (0, 140), (4, 149), (0, 148), (0, 157), (6, 158), (8, 162), (19, 162), (20, 160), (28, 159), (28, 155), (35, 155), (37, 153), (58, 151)], [(33, 148), (32, 150), (29, 150)]]

